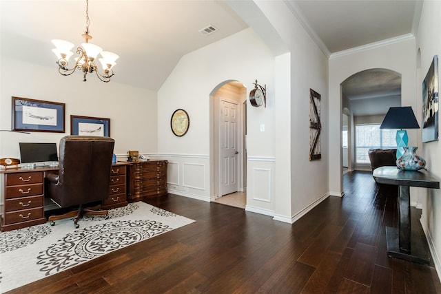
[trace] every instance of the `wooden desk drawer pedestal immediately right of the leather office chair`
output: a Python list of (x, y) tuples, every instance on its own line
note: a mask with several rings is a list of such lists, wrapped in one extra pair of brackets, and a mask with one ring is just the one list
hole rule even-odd
[(103, 209), (127, 205), (127, 164), (116, 163), (110, 172), (109, 198), (103, 200)]

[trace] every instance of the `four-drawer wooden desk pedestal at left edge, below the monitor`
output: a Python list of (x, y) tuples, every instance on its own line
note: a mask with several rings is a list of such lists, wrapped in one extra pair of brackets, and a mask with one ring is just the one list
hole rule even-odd
[(44, 224), (44, 171), (4, 174), (1, 231)]

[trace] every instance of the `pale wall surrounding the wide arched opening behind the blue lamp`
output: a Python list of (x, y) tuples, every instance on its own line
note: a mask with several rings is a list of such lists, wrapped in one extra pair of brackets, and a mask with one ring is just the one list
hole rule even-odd
[[(342, 98), (340, 83), (349, 76), (372, 68), (386, 68), (401, 74), (401, 105), (411, 106), (414, 112), (420, 113), (416, 101), (416, 60), (415, 39), (404, 39), (397, 43), (384, 43), (381, 47), (370, 50), (353, 50), (331, 56), (329, 59), (329, 189), (332, 195), (342, 193), (341, 173), (341, 112)], [(417, 144), (417, 130), (409, 129), (409, 145)], [(421, 142), (419, 140), (419, 142)], [(340, 155), (340, 156), (339, 156)]]

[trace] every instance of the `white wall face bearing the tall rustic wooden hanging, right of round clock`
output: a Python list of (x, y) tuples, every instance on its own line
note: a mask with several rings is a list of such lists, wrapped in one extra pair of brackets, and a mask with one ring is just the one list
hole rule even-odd
[[(276, 32), (290, 50), (290, 104), (278, 107), (276, 128), (289, 137), (289, 158), (277, 157), (276, 160), (289, 160), (291, 181), (291, 221), (295, 221), (329, 196), (328, 160), (329, 160), (329, 98), (328, 98), (328, 60), (316, 43), (305, 32), (302, 25), (287, 8), (283, 1), (258, 1)], [(280, 58), (287, 56), (280, 56)], [(309, 89), (321, 95), (320, 120), (322, 130), (320, 149), (322, 158), (309, 161)], [(276, 100), (277, 102), (279, 100)], [(279, 105), (278, 105), (279, 106)], [(289, 116), (285, 116), (289, 112)], [(279, 116), (289, 117), (283, 122)], [(277, 144), (285, 144), (282, 136)], [(285, 170), (277, 170), (279, 176)], [(281, 183), (279, 185), (286, 185)], [(277, 195), (279, 196), (279, 195)], [(280, 213), (284, 215), (285, 213)]]

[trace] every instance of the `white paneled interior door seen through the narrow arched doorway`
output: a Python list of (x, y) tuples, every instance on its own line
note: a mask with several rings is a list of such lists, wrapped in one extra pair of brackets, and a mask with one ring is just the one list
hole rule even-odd
[(220, 100), (220, 195), (238, 191), (238, 104)]

